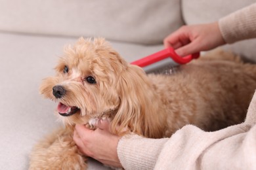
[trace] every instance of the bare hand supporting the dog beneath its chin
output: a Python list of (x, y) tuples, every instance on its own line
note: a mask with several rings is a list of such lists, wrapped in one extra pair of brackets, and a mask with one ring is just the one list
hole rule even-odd
[(83, 125), (75, 126), (73, 139), (78, 149), (106, 165), (122, 167), (117, 156), (117, 144), (121, 137), (108, 131), (108, 120), (98, 120), (96, 127), (91, 130)]

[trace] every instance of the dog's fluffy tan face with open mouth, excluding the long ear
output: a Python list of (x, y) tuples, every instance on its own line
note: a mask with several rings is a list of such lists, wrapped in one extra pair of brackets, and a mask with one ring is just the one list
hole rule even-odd
[(104, 39), (79, 39), (65, 49), (56, 76), (46, 78), (40, 91), (58, 101), (57, 112), (68, 124), (85, 124), (90, 118), (116, 110), (120, 99), (116, 75), (127, 63)]

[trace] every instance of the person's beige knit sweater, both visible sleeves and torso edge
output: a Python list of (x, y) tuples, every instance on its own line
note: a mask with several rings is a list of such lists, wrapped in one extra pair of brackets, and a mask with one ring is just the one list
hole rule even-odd
[[(228, 43), (256, 37), (256, 4), (219, 25)], [(164, 139), (127, 135), (117, 154), (125, 169), (256, 169), (256, 93), (243, 124), (214, 132), (188, 125)]]

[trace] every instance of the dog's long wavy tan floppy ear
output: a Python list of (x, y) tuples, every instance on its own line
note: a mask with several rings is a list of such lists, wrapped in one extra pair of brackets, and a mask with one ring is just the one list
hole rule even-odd
[(111, 124), (117, 135), (127, 131), (145, 137), (163, 136), (164, 115), (159, 113), (159, 96), (140, 67), (129, 65), (119, 76), (117, 91), (121, 103)]

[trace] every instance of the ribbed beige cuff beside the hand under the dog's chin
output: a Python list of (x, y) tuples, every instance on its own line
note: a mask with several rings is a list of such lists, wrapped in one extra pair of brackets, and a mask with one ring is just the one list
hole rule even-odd
[(127, 135), (120, 139), (117, 154), (125, 169), (154, 169), (157, 158), (168, 139), (146, 139)]

